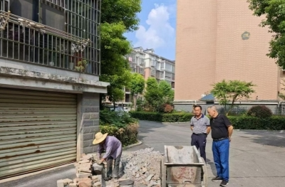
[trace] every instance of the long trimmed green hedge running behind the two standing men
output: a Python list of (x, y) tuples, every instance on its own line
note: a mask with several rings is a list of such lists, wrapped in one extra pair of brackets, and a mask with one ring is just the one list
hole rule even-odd
[[(130, 112), (130, 115), (140, 120), (155, 122), (190, 122), (191, 113), (177, 112), (163, 114), (157, 112)], [(285, 117), (272, 116), (268, 118), (259, 118), (251, 116), (229, 116), (234, 129), (266, 129), (266, 130), (284, 130)]]

